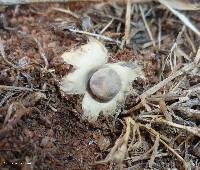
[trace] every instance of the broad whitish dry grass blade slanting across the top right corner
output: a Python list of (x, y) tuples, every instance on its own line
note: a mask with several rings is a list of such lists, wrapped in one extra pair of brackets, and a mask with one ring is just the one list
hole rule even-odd
[(198, 36), (200, 36), (200, 31), (191, 23), (191, 21), (182, 13), (178, 12), (175, 10), (172, 6), (171, 3), (169, 3), (166, 0), (158, 0), (160, 3), (165, 5), (169, 10), (176, 15), (187, 27), (189, 27), (192, 31), (194, 31)]

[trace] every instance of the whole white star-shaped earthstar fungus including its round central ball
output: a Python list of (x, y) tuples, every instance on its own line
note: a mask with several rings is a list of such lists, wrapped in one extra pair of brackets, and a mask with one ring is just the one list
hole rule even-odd
[(100, 113), (115, 114), (132, 92), (132, 81), (144, 77), (136, 62), (107, 63), (107, 49), (93, 38), (61, 57), (73, 65), (73, 71), (62, 78), (60, 88), (67, 94), (84, 94), (83, 118), (90, 122)]

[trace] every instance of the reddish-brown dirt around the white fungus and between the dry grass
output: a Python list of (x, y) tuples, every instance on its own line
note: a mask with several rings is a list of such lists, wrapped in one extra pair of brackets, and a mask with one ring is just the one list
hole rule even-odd
[[(82, 16), (92, 5), (92, 3), (85, 2), (35, 4), (23, 5), (19, 8), (12, 6), (0, 8), (0, 37), (4, 41), (6, 57), (14, 65), (23, 67), (14, 68), (13, 65), (9, 65), (1, 59), (0, 84), (35, 89), (30, 92), (27, 89), (8, 90), (3, 87), (0, 88), (1, 169), (111, 169), (110, 165), (96, 165), (95, 161), (104, 159), (109, 153), (110, 148), (114, 146), (116, 139), (122, 133), (122, 120), (117, 119), (114, 124), (113, 117), (105, 118), (100, 116), (94, 124), (83, 121), (81, 118), (82, 96), (66, 95), (59, 89), (60, 78), (72, 68), (60, 60), (60, 55), (64, 51), (86, 42), (87, 38), (84, 35), (69, 33), (65, 28), (57, 25), (57, 22), (66, 20), (68, 23), (72, 21), (72, 24), (75, 23), (77, 27), (81, 27), (81, 21), (79, 19), (50, 9), (52, 7), (65, 9), (69, 7), (75, 14)], [(125, 9), (125, 7), (123, 8)], [(163, 11), (161, 10), (162, 8), (157, 8), (155, 15), (162, 13)], [(116, 13), (113, 12), (113, 8), (104, 8), (102, 11), (118, 16), (116, 11)], [(120, 11), (118, 12), (120, 13)], [(99, 16), (95, 12), (91, 12), (90, 15), (93, 17), (96, 25), (98, 25), (98, 19), (104, 24), (110, 21), (110, 18), (106, 20), (106, 17), (103, 15)], [(165, 12), (162, 15), (164, 18), (162, 27), (166, 37), (162, 42), (163, 46), (161, 49), (150, 46), (148, 49), (144, 48), (141, 50), (140, 46), (137, 48), (137, 46), (133, 45), (119, 50), (115, 43), (106, 43), (106, 47), (110, 52), (111, 62), (138, 60), (143, 64), (147, 79), (145, 81), (139, 79), (133, 83), (139, 94), (161, 81), (162, 78), (158, 76), (160, 75), (158, 71), (161, 69), (182, 27), (181, 22), (179, 20), (177, 21), (177, 18), (173, 18), (169, 12)], [(200, 22), (197, 16), (198, 13), (197, 15), (192, 15), (195, 24), (199, 27)], [(124, 15), (120, 17), (124, 17)], [(137, 21), (139, 20), (139, 16), (134, 15), (133, 19)], [(118, 21), (118, 19), (116, 20)], [(124, 34), (122, 28), (119, 29), (120, 32), (115, 32), (117, 24), (119, 24), (117, 21), (116, 24), (114, 22), (110, 26), (106, 33), (113, 38), (116, 35), (119, 35), (118, 38), (122, 38)], [(157, 21), (155, 22), (154, 19), (151, 21), (151, 24), (156, 27)], [(123, 21), (122, 27), (124, 28)], [(154, 27), (152, 30), (156, 30)], [(134, 37), (136, 38), (133, 40), (135, 44), (140, 45), (144, 41), (143, 34), (141, 33), (140, 35), (139, 33), (137, 35), (142, 38), (137, 39), (137, 37)], [(153, 31), (153, 34), (155, 37), (157, 36), (156, 31)], [(146, 34), (145, 36), (148, 37)], [(34, 37), (38, 40), (42, 48), (39, 48)], [(192, 38), (196, 44), (199, 44), (199, 39)], [(184, 38), (181, 41), (182, 44), (186, 44), (182, 48), (187, 54), (190, 54), (192, 51), (191, 47), (188, 47), (185, 41)], [(45, 69), (42, 54), (45, 54), (47, 58), (48, 70)], [(186, 63), (185, 60), (179, 63), (182, 62)], [(165, 78), (168, 77), (169, 70), (170, 66), (166, 65), (163, 70)], [(200, 83), (198, 76), (187, 78), (188, 84), (184, 88)], [(177, 79), (176, 81), (179, 80)], [(168, 89), (168, 86), (163, 87), (159, 93), (164, 93)], [(195, 95), (192, 97), (196, 98)], [(174, 100), (166, 103), (171, 104), (173, 102)], [(137, 103), (138, 101), (136, 101), (135, 96), (129, 96), (125, 109), (130, 109)], [(150, 104), (150, 106), (154, 107), (158, 105), (158, 102), (152, 101)], [(139, 111), (136, 111), (135, 115), (137, 114), (139, 114)], [(198, 121), (195, 123), (195, 125), (199, 125)], [(180, 133), (180, 131), (166, 127), (165, 125), (152, 125), (152, 127), (160, 131), (161, 134), (166, 135), (170, 141), (173, 141)], [(143, 136), (143, 143), (136, 153), (143, 154), (150, 149), (153, 140), (146, 131), (141, 130), (141, 134)], [(182, 138), (188, 136), (187, 133), (181, 135), (177, 137), (176, 142), (178, 144), (183, 141)], [(191, 143), (197, 144), (197, 141), (198, 138), (194, 138), (191, 140)], [(176, 142), (174, 142), (174, 146), (178, 146)], [(188, 150), (180, 149), (180, 154), (184, 157), (185, 152), (188, 151), (190, 156), (192, 155), (191, 159), (194, 160), (193, 162), (197, 162), (196, 164), (198, 165), (199, 157), (194, 156), (191, 147), (188, 148)], [(160, 150), (167, 152), (166, 148), (163, 149), (163, 146), (160, 147)], [(176, 167), (181, 169), (180, 161), (177, 161), (170, 154), (164, 156), (163, 159), (156, 159), (155, 168), (164, 169)], [(127, 167), (132, 166), (135, 169), (144, 169), (146, 168), (146, 163), (146, 160), (142, 160), (136, 161), (136, 163), (127, 161), (125, 164)]]

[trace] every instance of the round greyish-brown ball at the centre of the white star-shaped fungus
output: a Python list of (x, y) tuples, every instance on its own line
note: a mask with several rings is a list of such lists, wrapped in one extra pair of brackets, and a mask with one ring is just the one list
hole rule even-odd
[(110, 68), (102, 68), (96, 71), (89, 82), (92, 95), (102, 101), (114, 98), (121, 89), (119, 75)]

